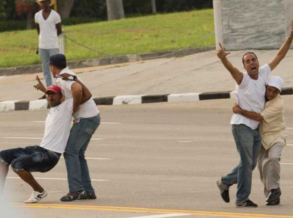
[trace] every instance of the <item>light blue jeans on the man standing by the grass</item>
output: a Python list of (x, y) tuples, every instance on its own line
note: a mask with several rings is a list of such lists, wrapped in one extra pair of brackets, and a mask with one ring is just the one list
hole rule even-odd
[(50, 61), (50, 56), (59, 53), (59, 48), (51, 48), (51, 49), (43, 49), (39, 48), (39, 54), (42, 63), (42, 70), (44, 72), (44, 78), (46, 81), (46, 87), (52, 85), (52, 77), (51, 77), (51, 70), (50, 65), (48, 65)]

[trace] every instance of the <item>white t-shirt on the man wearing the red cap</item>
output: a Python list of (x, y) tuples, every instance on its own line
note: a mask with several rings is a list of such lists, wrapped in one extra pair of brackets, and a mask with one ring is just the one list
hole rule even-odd
[(41, 147), (63, 153), (70, 133), (73, 98), (65, 100), (60, 105), (50, 109), (45, 123), (44, 137)]

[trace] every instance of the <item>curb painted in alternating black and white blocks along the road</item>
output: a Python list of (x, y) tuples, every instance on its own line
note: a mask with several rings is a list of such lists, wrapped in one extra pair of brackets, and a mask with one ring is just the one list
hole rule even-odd
[[(292, 95), (293, 87), (282, 88), (281, 95)], [(132, 105), (158, 102), (194, 102), (211, 99), (235, 98), (235, 91), (179, 93), (158, 95), (119, 95), (94, 98), (96, 105)], [(48, 109), (45, 99), (34, 101), (4, 101), (0, 102), (0, 112), (12, 110)]]

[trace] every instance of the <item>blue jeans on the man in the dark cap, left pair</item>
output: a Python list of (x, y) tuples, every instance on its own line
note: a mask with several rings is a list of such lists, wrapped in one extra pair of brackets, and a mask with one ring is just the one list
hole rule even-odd
[(69, 192), (85, 190), (93, 193), (89, 171), (84, 158), (85, 150), (92, 134), (100, 125), (100, 115), (90, 118), (80, 118), (74, 123), (71, 130), (65, 152), (63, 153), (66, 169)]

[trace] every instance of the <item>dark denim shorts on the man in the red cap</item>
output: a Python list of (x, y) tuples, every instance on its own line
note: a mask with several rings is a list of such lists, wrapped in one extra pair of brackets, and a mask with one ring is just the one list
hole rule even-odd
[(60, 156), (61, 153), (52, 152), (40, 146), (27, 146), (1, 151), (0, 161), (11, 165), (14, 171), (45, 173), (55, 167)]

